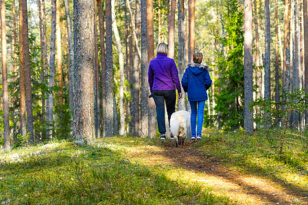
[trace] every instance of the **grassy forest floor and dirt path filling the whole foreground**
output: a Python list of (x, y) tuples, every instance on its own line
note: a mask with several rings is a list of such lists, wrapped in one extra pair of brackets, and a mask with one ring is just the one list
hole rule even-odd
[[(3, 152), (0, 202), (308, 204), (306, 161), (298, 171), (297, 167), (282, 167), (281, 162), (274, 161), (276, 155), (262, 158), (259, 152), (247, 152), (244, 156), (239, 153), (248, 141), (238, 143), (241, 147), (237, 148), (233, 139), (232, 152), (238, 153), (229, 157), (223, 154), (231, 153), (227, 139), (225, 144), (209, 140), (186, 141), (174, 148), (170, 140), (108, 137), (88, 146), (49, 141)], [(262, 167), (264, 164), (267, 166)]]

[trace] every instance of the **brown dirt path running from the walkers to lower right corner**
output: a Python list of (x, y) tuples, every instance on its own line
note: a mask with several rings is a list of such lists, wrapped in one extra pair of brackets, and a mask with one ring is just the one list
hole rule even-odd
[(226, 195), (239, 204), (308, 204), (307, 192), (231, 170), (217, 159), (202, 155), (191, 143), (185, 141), (185, 146), (174, 148), (174, 142), (167, 140), (161, 147), (133, 148), (128, 157), (162, 169), (168, 165), (181, 168), (183, 180), (198, 182), (204, 188), (211, 187), (215, 195)]

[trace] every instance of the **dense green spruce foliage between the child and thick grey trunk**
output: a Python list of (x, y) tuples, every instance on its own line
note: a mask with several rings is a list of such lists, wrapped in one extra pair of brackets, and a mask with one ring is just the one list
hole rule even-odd
[(217, 52), (215, 87), (216, 118), (225, 129), (244, 124), (244, 13), (238, 0), (226, 1), (223, 24), (226, 36), (219, 38), (223, 45)]

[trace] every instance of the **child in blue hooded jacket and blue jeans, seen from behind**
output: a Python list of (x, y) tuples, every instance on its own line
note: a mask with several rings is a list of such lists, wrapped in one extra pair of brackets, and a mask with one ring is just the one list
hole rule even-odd
[[(208, 66), (202, 65), (202, 53), (193, 54), (193, 64), (188, 64), (182, 78), (182, 87), (187, 92), (191, 105), (191, 139), (202, 139), (202, 126), (205, 100), (208, 99), (206, 90), (211, 87), (212, 80)], [(197, 124), (198, 115), (198, 124)], [(197, 124), (197, 132), (196, 132)]]

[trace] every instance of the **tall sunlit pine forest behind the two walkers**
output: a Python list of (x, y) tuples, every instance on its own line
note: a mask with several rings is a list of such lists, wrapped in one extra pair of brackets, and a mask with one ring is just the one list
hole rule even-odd
[(305, 131), (305, 29), (305, 0), (2, 0), (1, 144), (155, 137), (147, 65), (160, 42), (180, 79), (204, 54), (204, 126)]

